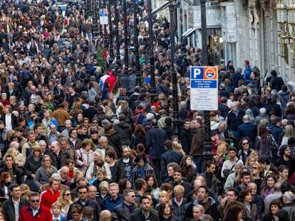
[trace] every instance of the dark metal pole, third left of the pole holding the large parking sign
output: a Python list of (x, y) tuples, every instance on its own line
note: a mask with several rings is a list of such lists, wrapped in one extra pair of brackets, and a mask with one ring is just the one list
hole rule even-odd
[(140, 86), (141, 77), (140, 77), (140, 63), (139, 63), (139, 54), (138, 54), (138, 6), (136, 1), (133, 0), (133, 20), (134, 20), (134, 43), (135, 43), (135, 70), (136, 70), (136, 85)]

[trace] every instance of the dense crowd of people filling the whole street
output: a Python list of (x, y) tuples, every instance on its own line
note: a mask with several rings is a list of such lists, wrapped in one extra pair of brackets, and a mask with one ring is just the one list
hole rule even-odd
[[(128, 33), (120, 18), (114, 38), (120, 60), (108, 63), (108, 38), (94, 35), (91, 7), (53, 4), (0, 2), (0, 220), (295, 220), (295, 92), (275, 70), (262, 84), (248, 60), (219, 67), (205, 161), (203, 113), (190, 109), (190, 66), (202, 65), (202, 51), (177, 39), (171, 67), (169, 21), (160, 15), (149, 24), (138, 1), (135, 36), (128, 0)], [(121, 5), (112, 4), (112, 16)]]

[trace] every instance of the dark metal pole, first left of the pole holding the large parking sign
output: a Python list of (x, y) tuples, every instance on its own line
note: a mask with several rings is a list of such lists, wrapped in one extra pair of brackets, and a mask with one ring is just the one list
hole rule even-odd
[(180, 121), (179, 121), (179, 108), (178, 108), (178, 95), (177, 95), (177, 75), (175, 72), (175, 2), (170, 0), (169, 5), (170, 12), (170, 43), (171, 43), (171, 74), (172, 74), (172, 96), (173, 96), (173, 133), (179, 134)]

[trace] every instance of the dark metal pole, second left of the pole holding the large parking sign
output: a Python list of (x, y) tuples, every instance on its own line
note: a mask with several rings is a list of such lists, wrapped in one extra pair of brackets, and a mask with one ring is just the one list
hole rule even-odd
[(155, 68), (154, 68), (154, 51), (152, 45), (153, 31), (152, 31), (152, 0), (148, 0), (148, 37), (150, 46), (150, 98), (154, 102), (155, 96)]

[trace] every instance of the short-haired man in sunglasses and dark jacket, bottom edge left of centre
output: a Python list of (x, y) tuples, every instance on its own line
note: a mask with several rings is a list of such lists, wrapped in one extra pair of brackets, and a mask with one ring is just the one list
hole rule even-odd
[(114, 220), (128, 221), (133, 211), (138, 207), (135, 203), (135, 192), (130, 189), (123, 191), (124, 202), (114, 208)]

